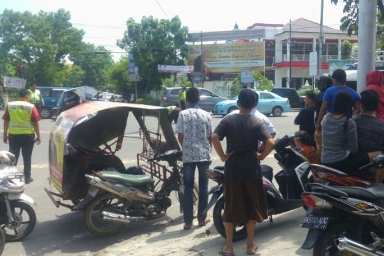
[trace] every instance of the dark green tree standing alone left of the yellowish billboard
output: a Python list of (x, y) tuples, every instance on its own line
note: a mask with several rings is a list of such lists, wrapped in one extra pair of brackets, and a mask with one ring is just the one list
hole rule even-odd
[(163, 78), (170, 76), (159, 73), (157, 65), (184, 65), (188, 29), (181, 26), (178, 16), (170, 20), (144, 16), (140, 23), (130, 18), (126, 26), (124, 37), (117, 45), (134, 55), (145, 98), (149, 91), (160, 88)]

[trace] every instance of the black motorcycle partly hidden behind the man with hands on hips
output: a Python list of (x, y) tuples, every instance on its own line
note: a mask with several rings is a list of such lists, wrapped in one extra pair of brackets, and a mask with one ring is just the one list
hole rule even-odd
[[(292, 143), (292, 140), (293, 137), (285, 136), (275, 144), (276, 154), (274, 154), (274, 157), (283, 168), (281, 172), (274, 176), (279, 184), (280, 193), (272, 184), (273, 169), (268, 165), (261, 165), (270, 222), (273, 221), (273, 215), (304, 206), (301, 194), (304, 190), (303, 184), (308, 182), (308, 175), (311, 168), (304, 156), (292, 150), (292, 148), (287, 147)], [(214, 224), (221, 236), (225, 238), (225, 228), (222, 219), (224, 211), (224, 197), (222, 196), (224, 191), (224, 167), (217, 166), (215, 169), (207, 170), (206, 173), (207, 176), (216, 181), (218, 185), (210, 189), (209, 194), (212, 194), (212, 197), (204, 213), (215, 205), (213, 213)], [(246, 236), (245, 223), (237, 223), (233, 233), (233, 241), (244, 239)]]

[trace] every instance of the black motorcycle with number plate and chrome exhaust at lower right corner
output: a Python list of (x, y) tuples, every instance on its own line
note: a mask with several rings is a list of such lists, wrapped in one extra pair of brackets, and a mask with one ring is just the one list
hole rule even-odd
[[(384, 155), (360, 170), (382, 167)], [(310, 183), (303, 200), (309, 207), (302, 248), (313, 255), (384, 255), (384, 184), (329, 186)]]

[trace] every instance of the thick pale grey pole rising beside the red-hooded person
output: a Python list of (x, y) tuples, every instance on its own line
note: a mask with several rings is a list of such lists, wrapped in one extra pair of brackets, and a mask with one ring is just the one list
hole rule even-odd
[(357, 92), (361, 92), (368, 72), (375, 69), (377, 1), (359, 1), (358, 7)]

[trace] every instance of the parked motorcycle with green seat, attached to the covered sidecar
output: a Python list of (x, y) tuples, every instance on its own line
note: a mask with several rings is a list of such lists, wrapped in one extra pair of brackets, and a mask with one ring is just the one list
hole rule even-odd
[(160, 217), (172, 205), (169, 194), (181, 184), (177, 161), (182, 152), (167, 151), (156, 155), (156, 161), (167, 161), (173, 174), (159, 191), (151, 189), (154, 180), (139, 168), (138, 173), (98, 172), (87, 174), (89, 195), (95, 198), (87, 206), (84, 220), (97, 236), (110, 236), (131, 221)]

